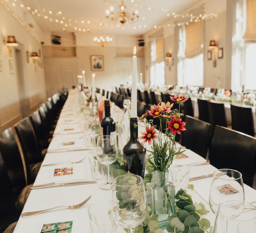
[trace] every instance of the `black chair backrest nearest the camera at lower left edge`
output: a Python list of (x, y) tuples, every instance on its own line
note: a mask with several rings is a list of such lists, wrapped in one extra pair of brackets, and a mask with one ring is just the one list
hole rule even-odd
[(7, 171), (4, 165), (3, 158), (0, 154), (0, 232), (4, 230), (17, 218), (15, 210), (15, 198), (12, 191), (12, 186), (7, 175)]

